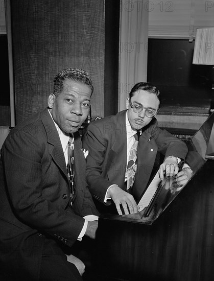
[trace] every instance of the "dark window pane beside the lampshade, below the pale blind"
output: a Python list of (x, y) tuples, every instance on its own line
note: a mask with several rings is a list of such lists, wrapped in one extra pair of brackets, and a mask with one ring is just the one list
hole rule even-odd
[(160, 90), (163, 105), (210, 102), (212, 65), (192, 63), (194, 44), (181, 39), (149, 39), (147, 81)]

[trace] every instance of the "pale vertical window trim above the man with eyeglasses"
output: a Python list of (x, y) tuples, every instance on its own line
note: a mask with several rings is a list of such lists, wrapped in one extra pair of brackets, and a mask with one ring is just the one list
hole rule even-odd
[(121, 1), (119, 46), (119, 104), (126, 108), (126, 98), (137, 82), (147, 82), (148, 1)]

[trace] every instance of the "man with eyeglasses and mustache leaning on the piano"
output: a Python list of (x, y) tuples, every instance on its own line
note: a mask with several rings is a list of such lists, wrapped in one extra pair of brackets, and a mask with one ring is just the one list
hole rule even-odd
[(157, 152), (165, 155), (159, 168), (160, 179), (177, 175), (179, 183), (187, 180), (188, 171), (178, 173), (178, 164), (184, 161), (187, 147), (158, 128), (155, 115), (159, 99), (160, 92), (155, 86), (137, 83), (127, 99), (128, 110), (88, 126), (83, 138), (83, 148), (88, 151), (86, 179), (93, 198), (103, 203), (97, 204), (100, 212), (119, 215), (137, 212)]

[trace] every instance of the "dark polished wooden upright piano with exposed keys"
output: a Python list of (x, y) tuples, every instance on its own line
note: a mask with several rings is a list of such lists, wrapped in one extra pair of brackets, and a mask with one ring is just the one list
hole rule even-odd
[(137, 214), (100, 216), (98, 280), (214, 280), (213, 123), (214, 113), (187, 143), (193, 175), (184, 186), (157, 181)]

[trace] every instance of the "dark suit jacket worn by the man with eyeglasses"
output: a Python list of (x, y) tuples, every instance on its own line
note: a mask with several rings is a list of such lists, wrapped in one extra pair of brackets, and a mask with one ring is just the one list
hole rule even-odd
[[(126, 135), (126, 110), (92, 122), (84, 135), (83, 148), (89, 151), (86, 158), (86, 180), (92, 196), (101, 202), (104, 202), (111, 184), (124, 188), (127, 165)], [(165, 156), (173, 155), (184, 159), (187, 147), (169, 132), (158, 128), (154, 118), (143, 128), (137, 147), (137, 172), (133, 185), (133, 191), (137, 190), (137, 201), (146, 189), (157, 151)]]

